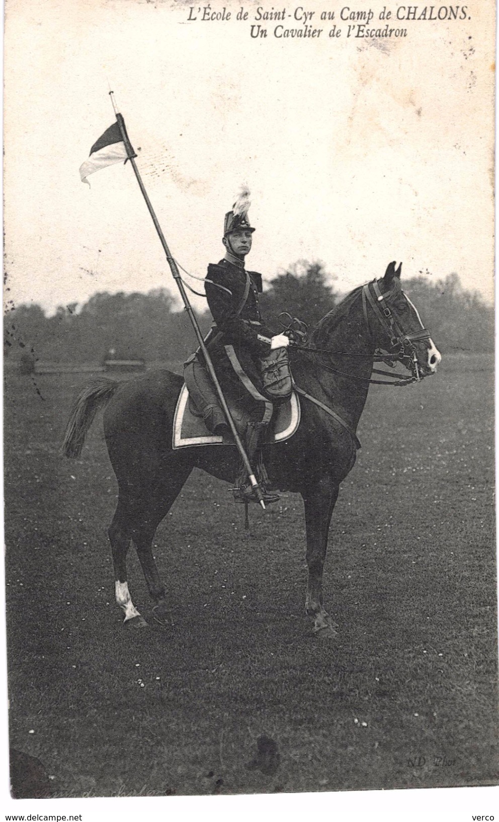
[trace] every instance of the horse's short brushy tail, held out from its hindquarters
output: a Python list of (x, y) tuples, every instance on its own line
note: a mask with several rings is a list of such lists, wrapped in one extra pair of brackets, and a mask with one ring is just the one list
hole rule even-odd
[(62, 455), (70, 458), (80, 456), (85, 436), (94, 422), (95, 414), (108, 404), (119, 385), (119, 382), (101, 377), (89, 382), (89, 385), (80, 391), (67, 421), (61, 446)]

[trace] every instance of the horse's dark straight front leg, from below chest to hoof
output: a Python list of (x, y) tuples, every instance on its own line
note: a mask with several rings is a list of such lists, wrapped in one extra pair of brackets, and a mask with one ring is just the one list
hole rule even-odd
[(334, 633), (336, 625), (323, 606), (323, 567), (327, 551), (327, 534), (339, 486), (329, 477), (321, 478), (304, 494), (305, 524), (307, 529), (307, 566), (309, 577), (305, 612), (314, 617), (314, 631)]

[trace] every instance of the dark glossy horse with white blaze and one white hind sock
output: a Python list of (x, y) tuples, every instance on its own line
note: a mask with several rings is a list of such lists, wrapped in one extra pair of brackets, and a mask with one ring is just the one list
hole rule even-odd
[[(298, 492), (304, 501), (308, 580), (305, 612), (312, 630), (334, 633), (323, 604), (327, 536), (340, 483), (355, 464), (355, 431), (372, 382), (375, 361), (402, 363), (410, 377), (399, 385), (434, 374), (441, 361), (417, 309), (401, 288), (401, 265), (387, 266), (381, 279), (359, 286), (328, 312), (305, 345), (290, 346), (291, 371), (301, 406), (300, 426), (287, 441), (263, 446), (272, 487)], [(384, 353), (383, 353), (384, 352)], [(376, 371), (376, 369), (374, 369)], [(391, 372), (381, 372), (383, 374)], [(193, 468), (233, 481), (238, 468), (234, 446), (172, 449), (172, 425), (182, 377), (167, 370), (146, 372), (125, 382), (94, 380), (77, 397), (68, 420), (62, 453), (77, 457), (98, 409), (119, 488), (108, 529), (117, 604), (124, 624), (147, 622), (130, 598), (126, 554), (133, 541), (153, 600), (153, 617), (166, 625), (165, 586), (154, 561), (154, 533)]]

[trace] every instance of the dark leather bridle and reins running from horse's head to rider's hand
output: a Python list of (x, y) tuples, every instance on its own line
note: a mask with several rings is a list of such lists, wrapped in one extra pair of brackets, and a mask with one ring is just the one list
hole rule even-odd
[[(371, 283), (366, 283), (362, 288), (362, 308), (364, 312), (364, 320), (369, 329), (369, 334), (371, 335), (373, 344), (375, 344), (376, 337), (373, 334), (372, 324), (369, 319), (369, 307), (371, 307), (373, 309), (374, 319), (378, 320), (382, 326), (382, 329), (386, 332), (388, 339), (390, 339), (390, 347), (387, 349), (387, 353), (383, 353), (380, 348), (376, 349), (373, 355), (359, 354), (349, 351), (332, 351), (330, 349), (317, 349), (308, 345), (300, 345), (295, 342), (291, 343), (292, 349), (305, 351), (307, 353), (329, 353), (342, 357), (373, 358), (375, 363), (385, 363), (385, 365), (392, 368), (396, 366), (396, 363), (402, 363), (407, 370), (411, 372), (410, 377), (403, 377), (398, 374), (382, 371), (379, 368), (373, 368), (374, 374), (389, 376), (391, 381), (372, 380), (368, 377), (355, 376), (353, 374), (339, 371), (337, 368), (332, 368), (321, 361), (321, 366), (326, 368), (327, 371), (331, 371), (339, 376), (345, 376), (350, 380), (375, 383), (381, 386), (408, 386), (411, 382), (420, 382), (425, 375), (420, 370), (414, 343), (421, 339), (430, 339), (430, 333), (426, 328), (422, 328), (421, 330), (414, 331), (414, 333), (410, 334), (407, 334), (403, 330), (401, 317), (398, 315), (393, 305), (389, 305), (388, 302), (394, 294), (400, 293), (400, 290), (401, 289), (398, 287), (395, 287), (383, 294), (379, 288), (377, 279), (374, 279)], [(290, 317), (292, 323), (300, 323), (299, 334), (303, 339), (304, 323), (297, 321), (295, 318), (291, 318), (289, 314), (286, 316)], [(292, 324), (287, 326), (287, 330), (293, 330)]]

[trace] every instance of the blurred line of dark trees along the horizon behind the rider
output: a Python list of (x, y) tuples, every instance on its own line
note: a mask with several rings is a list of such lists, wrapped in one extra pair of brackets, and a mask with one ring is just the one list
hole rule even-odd
[[(295, 263), (263, 293), (266, 321), (278, 330), (278, 315), (287, 311), (313, 326), (339, 301), (335, 282), (318, 261)], [(493, 350), (494, 309), (478, 293), (463, 289), (456, 274), (437, 282), (407, 279), (404, 289), (443, 352)], [(204, 332), (210, 323), (208, 311), (199, 316)], [(195, 347), (190, 321), (166, 289), (96, 293), (81, 307), (58, 307), (53, 316), (39, 305), (21, 305), (11, 307), (4, 321), (4, 353), (12, 359), (98, 363), (113, 349), (119, 359), (181, 361)]]

